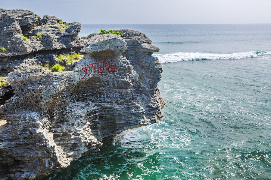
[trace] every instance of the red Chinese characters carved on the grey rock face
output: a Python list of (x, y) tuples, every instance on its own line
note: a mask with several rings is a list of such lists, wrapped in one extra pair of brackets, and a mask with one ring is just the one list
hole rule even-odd
[[(98, 74), (103, 74), (104, 72), (107, 73), (117, 73), (118, 71), (116, 70), (117, 63), (116, 62), (110, 62), (106, 61), (107, 64), (104, 65), (104, 62), (97, 62), (97, 63), (91, 63), (91, 64), (84, 64), (85, 66), (82, 67), (83, 70), (83, 78), (86, 77), (86, 75), (90, 75), (95, 73), (95, 68), (97, 68), (97, 73)], [(88, 73), (88, 68), (90, 68), (90, 72)], [(105, 69), (104, 69), (105, 68)]]

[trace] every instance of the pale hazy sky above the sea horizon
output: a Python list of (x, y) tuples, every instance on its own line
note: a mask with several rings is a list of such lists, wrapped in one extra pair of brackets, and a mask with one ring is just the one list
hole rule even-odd
[(0, 0), (81, 24), (271, 23), (271, 0)]

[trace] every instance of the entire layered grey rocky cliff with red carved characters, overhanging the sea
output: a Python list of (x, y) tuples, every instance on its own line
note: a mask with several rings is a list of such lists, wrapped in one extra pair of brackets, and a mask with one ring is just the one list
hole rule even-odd
[[(140, 32), (79, 38), (80, 28), (0, 9), (0, 180), (64, 169), (104, 138), (162, 119), (159, 49)], [(79, 51), (80, 60), (57, 59)], [(56, 63), (65, 70), (50, 72)]]

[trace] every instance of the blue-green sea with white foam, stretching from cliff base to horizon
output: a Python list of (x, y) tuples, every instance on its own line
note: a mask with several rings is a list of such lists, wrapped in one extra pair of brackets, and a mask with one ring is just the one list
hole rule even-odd
[(42, 180), (271, 179), (271, 24), (82, 25), (160, 48), (164, 120)]

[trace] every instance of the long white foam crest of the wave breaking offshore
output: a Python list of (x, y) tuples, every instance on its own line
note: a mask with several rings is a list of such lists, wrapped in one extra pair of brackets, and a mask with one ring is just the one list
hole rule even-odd
[(179, 62), (179, 61), (190, 61), (190, 60), (199, 60), (199, 59), (241, 59), (257, 57), (257, 51), (249, 52), (239, 52), (233, 54), (210, 54), (210, 53), (200, 53), (200, 52), (179, 52), (173, 54), (155, 54), (154, 57), (160, 60), (160, 63), (167, 62)]

